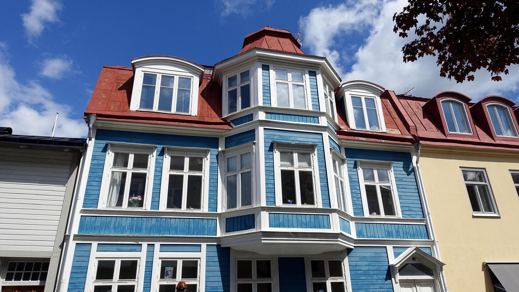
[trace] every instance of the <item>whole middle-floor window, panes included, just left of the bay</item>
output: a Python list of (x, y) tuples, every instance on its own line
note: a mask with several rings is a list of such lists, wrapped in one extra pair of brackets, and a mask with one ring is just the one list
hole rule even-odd
[(162, 169), (163, 210), (202, 210), (208, 151), (166, 149)]

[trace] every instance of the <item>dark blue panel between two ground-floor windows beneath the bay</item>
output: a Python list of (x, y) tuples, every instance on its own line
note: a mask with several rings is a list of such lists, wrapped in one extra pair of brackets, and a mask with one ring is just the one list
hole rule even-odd
[(278, 258), (279, 292), (306, 292), (305, 258)]

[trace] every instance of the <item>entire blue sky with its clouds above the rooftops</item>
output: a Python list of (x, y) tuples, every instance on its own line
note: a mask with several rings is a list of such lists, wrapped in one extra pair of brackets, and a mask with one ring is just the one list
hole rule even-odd
[(517, 77), (496, 85), (482, 72), (472, 84), (456, 85), (438, 76), (434, 60), (403, 64), (403, 41), (391, 32), (391, 17), (404, 0), (203, 3), (4, 2), (0, 126), (49, 135), (59, 111), (56, 135), (84, 136), (83, 113), (103, 65), (129, 66), (146, 54), (212, 65), (235, 55), (245, 35), (266, 25), (293, 33), (303, 27), (302, 49), (329, 58), (343, 81), (365, 79), (397, 93), (414, 86), (413, 93), (425, 97), (453, 89), (474, 100), (495, 93), (517, 98)]

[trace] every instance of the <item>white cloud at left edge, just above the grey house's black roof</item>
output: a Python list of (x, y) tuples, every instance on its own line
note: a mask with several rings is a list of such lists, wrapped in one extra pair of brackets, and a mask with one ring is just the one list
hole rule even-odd
[(50, 136), (59, 112), (55, 136), (85, 136), (84, 120), (70, 118), (71, 106), (55, 102), (52, 94), (36, 81), (20, 84), (5, 49), (6, 46), (0, 46), (0, 126), (11, 127), (15, 134)]

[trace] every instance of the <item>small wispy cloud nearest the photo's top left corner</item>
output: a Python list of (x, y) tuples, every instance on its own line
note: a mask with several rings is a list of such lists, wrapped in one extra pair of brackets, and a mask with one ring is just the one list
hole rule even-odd
[(54, 0), (33, 0), (31, 11), (22, 14), (23, 26), (29, 38), (42, 34), (47, 22), (57, 22), (62, 4)]

